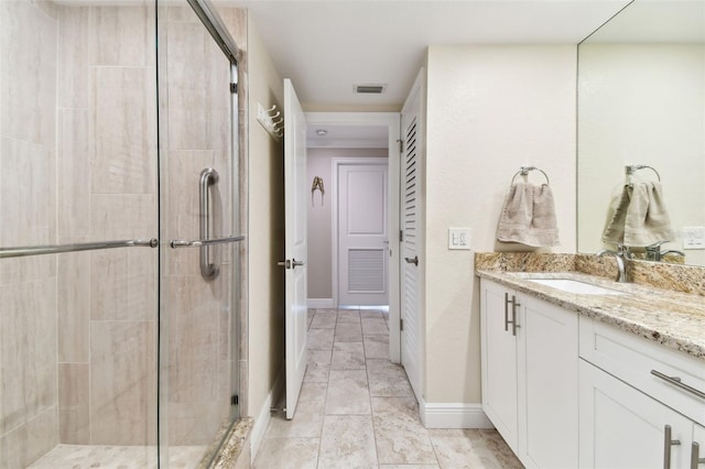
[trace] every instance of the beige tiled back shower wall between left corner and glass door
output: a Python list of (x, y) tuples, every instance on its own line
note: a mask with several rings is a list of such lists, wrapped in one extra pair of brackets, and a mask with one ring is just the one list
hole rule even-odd
[[(155, 238), (154, 11), (57, 7), (56, 242)], [(156, 436), (156, 252), (61, 254), (64, 444)]]

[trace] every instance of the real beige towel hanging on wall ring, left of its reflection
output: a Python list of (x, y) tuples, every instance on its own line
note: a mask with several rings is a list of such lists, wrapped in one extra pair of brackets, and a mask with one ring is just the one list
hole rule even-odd
[(551, 187), (513, 184), (505, 197), (497, 239), (536, 248), (557, 246), (558, 228)]

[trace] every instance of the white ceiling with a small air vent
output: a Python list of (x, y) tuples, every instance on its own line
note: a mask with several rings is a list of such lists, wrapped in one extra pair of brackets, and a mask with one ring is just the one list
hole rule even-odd
[[(292, 79), (305, 110), (399, 111), (429, 45), (577, 44), (629, 0), (223, 3), (249, 9), (279, 74)], [(386, 90), (356, 94), (359, 84), (383, 84)], [(315, 141), (316, 135), (312, 133), (311, 139)]]

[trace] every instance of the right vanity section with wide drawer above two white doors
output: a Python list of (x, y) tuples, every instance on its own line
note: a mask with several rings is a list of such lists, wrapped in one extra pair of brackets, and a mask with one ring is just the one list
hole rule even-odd
[(705, 468), (703, 361), (587, 317), (579, 330), (579, 467)]

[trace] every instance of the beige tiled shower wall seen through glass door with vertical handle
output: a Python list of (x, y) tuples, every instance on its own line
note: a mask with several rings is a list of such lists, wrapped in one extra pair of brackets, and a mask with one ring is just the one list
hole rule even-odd
[[(203, 168), (219, 174), (212, 236), (232, 232), (230, 146), (230, 65), (189, 8), (166, 9), (166, 63), (160, 70), (166, 89), (162, 131), (170, 237), (199, 238), (198, 181)], [(161, 75), (162, 72), (165, 75)], [(164, 133), (163, 133), (164, 134)], [(212, 193), (214, 194), (214, 193)], [(234, 353), (231, 335), (231, 250), (212, 248), (219, 275), (205, 281), (195, 249), (166, 257), (167, 339), (166, 425), (170, 445), (207, 445), (230, 414)]]

